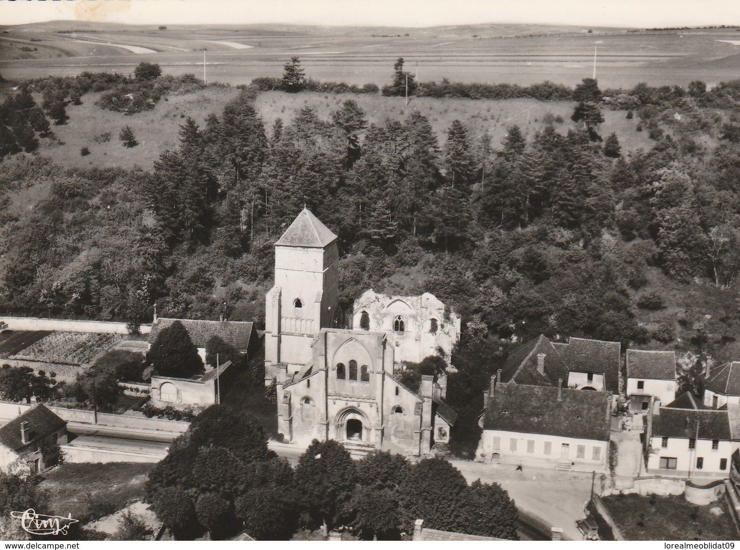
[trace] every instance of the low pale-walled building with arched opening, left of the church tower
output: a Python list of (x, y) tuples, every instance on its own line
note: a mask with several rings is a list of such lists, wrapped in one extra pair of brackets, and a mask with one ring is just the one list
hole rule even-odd
[[(209, 407), (221, 402), (224, 388), (229, 387), (235, 370), (231, 361), (221, 364), (218, 369), (206, 366), (206, 372), (192, 378), (152, 375), (152, 404), (186, 404), (196, 407)], [(157, 403), (161, 401), (162, 403)]]

